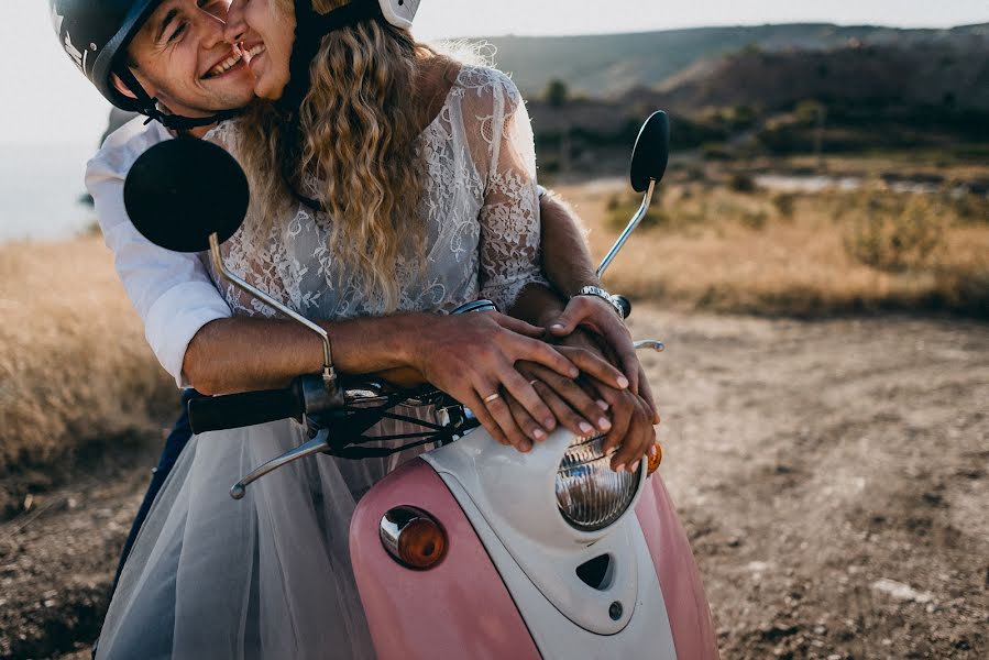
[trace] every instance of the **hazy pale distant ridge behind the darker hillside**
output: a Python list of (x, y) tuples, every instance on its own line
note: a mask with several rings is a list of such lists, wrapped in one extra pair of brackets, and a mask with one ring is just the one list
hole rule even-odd
[(480, 41), (495, 46), (497, 65), (510, 72), (529, 97), (541, 94), (550, 80), (561, 79), (579, 95), (608, 98), (635, 88), (657, 88), (701, 61), (743, 50), (829, 51), (849, 44), (979, 50), (989, 44), (989, 23), (950, 30), (789, 24)]

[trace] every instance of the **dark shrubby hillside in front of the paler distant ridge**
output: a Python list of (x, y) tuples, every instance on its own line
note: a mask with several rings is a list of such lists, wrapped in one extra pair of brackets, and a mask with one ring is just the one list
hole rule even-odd
[[(714, 32), (738, 37), (726, 30)], [(861, 38), (849, 34), (866, 29), (759, 30), (772, 37), (766, 42), (771, 46), (749, 42), (740, 50), (697, 59), (661, 82), (639, 76), (636, 87), (620, 94), (592, 96), (574, 94), (579, 82), (562, 78), (569, 96), (550, 99), (530, 94), (528, 108), (541, 152), (552, 158), (567, 144), (571, 157), (625, 150), (642, 118), (662, 108), (673, 116), (675, 150), (702, 147), (713, 157), (917, 147), (948, 150), (968, 160), (985, 157), (989, 25), (950, 31), (869, 29), (872, 32)], [(700, 35), (711, 31), (688, 32), (700, 46), (704, 42)], [(810, 33), (815, 38), (804, 38), (801, 47), (780, 47), (783, 35), (796, 43), (796, 35)], [(834, 36), (836, 45), (828, 46), (825, 34)], [(589, 47), (585, 57), (592, 54)], [(586, 70), (607, 69), (609, 53), (603, 50), (597, 56), (597, 68)], [(534, 62), (539, 62), (539, 70), (553, 65)], [(652, 70), (661, 68), (656, 65)], [(525, 85), (524, 79), (518, 81)], [(547, 165), (556, 166), (552, 160)], [(565, 168), (565, 163), (560, 166)]]

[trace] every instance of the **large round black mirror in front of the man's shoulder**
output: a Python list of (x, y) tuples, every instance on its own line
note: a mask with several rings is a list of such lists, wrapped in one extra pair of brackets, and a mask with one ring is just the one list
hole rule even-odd
[(175, 252), (222, 243), (248, 212), (251, 191), (237, 161), (221, 147), (194, 138), (162, 142), (134, 162), (123, 204), (144, 238)]

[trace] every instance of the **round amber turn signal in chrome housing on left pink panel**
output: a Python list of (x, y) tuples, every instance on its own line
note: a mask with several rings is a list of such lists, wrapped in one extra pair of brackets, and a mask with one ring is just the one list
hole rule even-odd
[(419, 508), (399, 506), (388, 510), (380, 532), (388, 554), (409, 569), (431, 569), (447, 554), (447, 532)]

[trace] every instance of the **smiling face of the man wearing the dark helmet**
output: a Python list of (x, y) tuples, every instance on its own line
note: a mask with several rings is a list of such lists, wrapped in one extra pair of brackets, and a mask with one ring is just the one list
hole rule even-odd
[(254, 98), (251, 68), (223, 37), (229, 6), (230, 0), (164, 0), (131, 42), (134, 76), (174, 114), (208, 117)]

